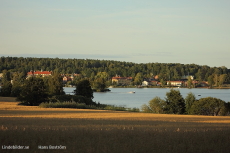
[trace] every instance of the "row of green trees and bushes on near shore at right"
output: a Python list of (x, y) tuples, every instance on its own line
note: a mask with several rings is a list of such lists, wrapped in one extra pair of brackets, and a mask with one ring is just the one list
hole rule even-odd
[(171, 89), (166, 93), (166, 98), (155, 97), (148, 104), (142, 105), (142, 111), (156, 114), (189, 114), (224, 116), (230, 114), (230, 102), (206, 97), (199, 100), (193, 93), (188, 93), (183, 98), (179, 90)]

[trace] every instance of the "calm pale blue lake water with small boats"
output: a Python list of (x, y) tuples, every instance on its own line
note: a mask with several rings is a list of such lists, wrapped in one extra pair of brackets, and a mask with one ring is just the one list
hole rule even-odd
[[(64, 88), (65, 92), (72, 92), (75, 88)], [(166, 97), (169, 88), (110, 88), (111, 92), (95, 92), (94, 101), (101, 104), (125, 106), (128, 108), (140, 108), (147, 104), (151, 99), (158, 96), (162, 99)], [(185, 98), (192, 92), (197, 99), (204, 97), (216, 97), (226, 102), (230, 101), (230, 89), (187, 89), (178, 88), (181, 95)], [(135, 93), (129, 93), (135, 91)], [(200, 96), (199, 96), (200, 95)]]

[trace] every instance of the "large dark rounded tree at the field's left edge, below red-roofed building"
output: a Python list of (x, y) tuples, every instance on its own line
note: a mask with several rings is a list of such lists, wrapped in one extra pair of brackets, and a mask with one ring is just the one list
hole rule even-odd
[(37, 106), (48, 99), (47, 88), (42, 78), (30, 77), (22, 86), (22, 91), (17, 97), (25, 105)]

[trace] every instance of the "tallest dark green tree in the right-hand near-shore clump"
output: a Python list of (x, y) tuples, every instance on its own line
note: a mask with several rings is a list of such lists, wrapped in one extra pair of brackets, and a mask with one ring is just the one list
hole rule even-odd
[(179, 90), (171, 89), (166, 93), (167, 112), (169, 114), (183, 114), (185, 112), (184, 98)]

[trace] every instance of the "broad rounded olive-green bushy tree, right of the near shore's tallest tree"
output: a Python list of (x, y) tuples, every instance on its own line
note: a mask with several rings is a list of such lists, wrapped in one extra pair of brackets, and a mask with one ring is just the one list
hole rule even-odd
[(223, 100), (206, 97), (193, 103), (191, 114), (218, 116), (223, 109), (225, 109), (225, 102)]

